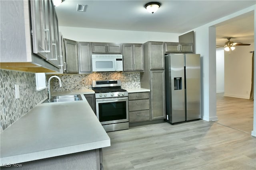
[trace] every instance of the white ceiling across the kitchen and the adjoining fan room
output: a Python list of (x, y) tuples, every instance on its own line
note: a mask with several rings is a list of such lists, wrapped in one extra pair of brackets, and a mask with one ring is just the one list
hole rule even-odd
[[(153, 0), (154, 1), (154, 0)], [(150, 0), (64, 0), (56, 7), (60, 26), (184, 33), (249, 6), (255, 0), (157, 0), (154, 14), (144, 4)], [(77, 4), (86, 5), (77, 12)], [(226, 37), (236, 42), (254, 42), (254, 13), (250, 12), (216, 25), (216, 44)]]

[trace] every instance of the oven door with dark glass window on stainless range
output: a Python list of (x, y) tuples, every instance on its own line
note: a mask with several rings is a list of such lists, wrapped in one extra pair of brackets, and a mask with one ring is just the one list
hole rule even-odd
[(128, 122), (128, 97), (96, 99), (96, 115), (102, 125)]

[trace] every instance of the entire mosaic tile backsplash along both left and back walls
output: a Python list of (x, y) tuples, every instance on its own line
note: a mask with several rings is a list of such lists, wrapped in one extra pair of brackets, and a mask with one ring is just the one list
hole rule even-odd
[[(47, 80), (52, 75), (46, 75)], [(139, 72), (94, 72), (92, 74), (58, 74), (51, 81), (52, 92), (92, 89), (92, 80), (121, 80), (121, 88), (140, 88)], [(47, 89), (36, 91), (36, 74), (0, 69), (0, 133), (39, 102), (47, 98)], [(15, 98), (15, 84), (19, 85), (20, 98)]]

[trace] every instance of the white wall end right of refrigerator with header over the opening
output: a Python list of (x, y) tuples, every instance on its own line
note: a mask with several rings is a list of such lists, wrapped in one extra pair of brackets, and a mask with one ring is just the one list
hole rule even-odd
[[(236, 16), (240, 16), (247, 12), (254, 11), (256, 5), (245, 8), (230, 14), (218, 20), (202, 25), (201, 27), (193, 29), (195, 33), (195, 43), (196, 43), (196, 53), (201, 54), (203, 69), (202, 69), (202, 80), (203, 80), (203, 119), (207, 121), (218, 120), (216, 115), (216, 37), (215, 33), (212, 30), (214, 25), (221, 23), (223, 21), (229, 20)], [(255, 15), (255, 11), (254, 11)], [(254, 22), (255, 23), (255, 22)], [(255, 29), (255, 27), (254, 27)], [(192, 31), (192, 30), (191, 30)], [(189, 32), (189, 31), (188, 31)], [(255, 36), (255, 31), (254, 31)], [(215, 43), (215, 45), (214, 45)], [(254, 113), (254, 119), (256, 118), (256, 113)], [(256, 128), (256, 125), (254, 125)], [(256, 131), (256, 129), (254, 130)]]

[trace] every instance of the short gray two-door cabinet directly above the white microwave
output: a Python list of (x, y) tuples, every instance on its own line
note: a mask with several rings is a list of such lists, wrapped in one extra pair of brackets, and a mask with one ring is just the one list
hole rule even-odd
[(121, 54), (121, 44), (118, 43), (92, 43), (92, 53)]

